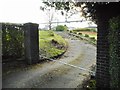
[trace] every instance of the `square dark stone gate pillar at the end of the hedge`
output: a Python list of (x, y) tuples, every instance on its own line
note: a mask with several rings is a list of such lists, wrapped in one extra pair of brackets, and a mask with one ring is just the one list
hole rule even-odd
[(37, 63), (39, 61), (38, 24), (25, 23), (24, 32), (25, 60), (28, 64)]

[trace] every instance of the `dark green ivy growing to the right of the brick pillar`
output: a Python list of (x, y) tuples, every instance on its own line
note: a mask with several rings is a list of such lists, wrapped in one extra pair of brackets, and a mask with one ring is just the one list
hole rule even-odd
[(120, 16), (109, 21), (110, 86), (120, 88)]

